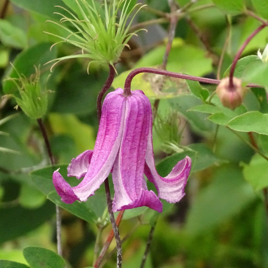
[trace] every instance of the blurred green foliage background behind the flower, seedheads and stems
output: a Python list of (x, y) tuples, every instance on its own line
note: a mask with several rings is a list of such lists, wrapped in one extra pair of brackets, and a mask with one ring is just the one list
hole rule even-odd
[[(254, 1), (254, 0), (252, 0)], [(95, 0), (101, 5), (101, 1)], [(137, 1), (132, 0), (135, 5)], [(139, 1), (138, 1), (139, 2)], [(123, 87), (130, 69), (161, 68), (168, 44), (170, 5), (180, 7), (188, 0), (144, 0), (144, 7), (132, 27), (145, 28), (129, 41), (116, 64), (118, 75), (113, 87)], [(47, 20), (58, 21), (61, 0), (0, 1), (0, 96), (14, 93), (14, 85), (3, 80), (14, 72), (10, 62), (26, 77), (41, 66), (41, 83), (49, 90), (48, 112), (44, 123), (53, 155), (62, 175), (70, 160), (93, 149), (98, 120), (96, 98), (109, 73), (108, 66), (90, 65), (86, 59), (70, 59), (56, 65), (44, 63), (79, 50), (43, 33), (66, 36)], [(170, 5), (169, 5), (170, 4)], [(254, 10), (251, 1), (245, 1)], [(218, 77), (222, 78), (237, 50), (260, 22), (245, 14), (226, 16), (211, 0), (199, 0), (186, 6), (178, 16), (166, 69), (195, 76), (216, 78), (226, 36), (230, 38)], [(63, 32), (62, 32), (63, 31)], [(243, 57), (255, 55), (267, 43), (267, 29), (246, 47)], [(268, 267), (267, 214), (262, 189), (268, 183), (265, 161), (237, 135), (206, 119), (208, 114), (188, 111), (202, 104), (180, 79), (155, 75), (137, 76), (132, 89), (141, 89), (152, 105), (160, 98), (153, 129), (155, 161), (158, 172), (167, 175), (178, 160), (193, 159), (186, 195), (177, 204), (164, 203), (157, 215), (146, 207), (128, 210), (120, 224), (123, 243), (123, 267), (140, 267), (151, 226), (157, 219), (151, 250), (145, 267), (155, 268), (265, 268)], [(213, 85), (202, 85), (210, 93)], [(113, 90), (111, 88), (111, 90)], [(256, 97), (263, 91), (248, 92), (244, 104), (248, 111), (267, 112), (267, 100)], [(262, 95), (263, 96), (263, 95)], [(265, 95), (264, 95), (265, 96)], [(215, 97), (217, 101), (217, 97)], [(44, 142), (35, 120), (28, 118), (16, 102), (4, 96), (0, 102), (0, 259), (27, 264), (22, 249), (40, 246), (56, 252), (55, 205), (60, 202), (51, 192), (51, 168)], [(10, 117), (11, 116), (11, 117)], [(8, 119), (7, 119), (8, 118)], [(240, 133), (248, 139), (246, 133)], [(255, 134), (254, 134), (255, 135)], [(255, 135), (261, 150), (268, 152), (267, 136)], [(254, 157), (254, 158), (252, 158)], [(252, 160), (253, 159), (253, 160)], [(253, 161), (253, 162), (252, 162)], [(254, 183), (258, 178), (263, 183)], [(49, 181), (49, 182), (47, 182)], [(49, 184), (47, 184), (49, 183)], [(267, 183), (267, 185), (266, 185)], [(47, 185), (49, 187), (47, 188)], [(150, 185), (149, 185), (150, 186)], [(111, 186), (111, 188), (113, 188)], [(47, 198), (48, 196), (48, 198)], [(91, 266), (94, 245), (102, 219), (100, 244), (111, 226), (107, 218), (104, 187), (81, 208), (81, 213), (62, 209), (63, 256), (71, 267)], [(104, 215), (104, 217), (103, 217)], [(113, 241), (110, 249), (115, 247)], [(111, 253), (104, 267), (115, 267)]]

